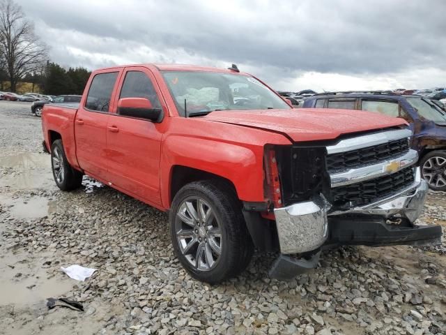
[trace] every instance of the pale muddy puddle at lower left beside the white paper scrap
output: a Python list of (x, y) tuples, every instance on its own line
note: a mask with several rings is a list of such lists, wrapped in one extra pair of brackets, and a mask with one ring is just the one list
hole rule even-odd
[(72, 290), (75, 283), (64, 278), (62, 272), (53, 276), (40, 267), (45, 261), (45, 257), (30, 260), (29, 255), (3, 255), (0, 258), (0, 306), (45, 304), (45, 299), (61, 297)]

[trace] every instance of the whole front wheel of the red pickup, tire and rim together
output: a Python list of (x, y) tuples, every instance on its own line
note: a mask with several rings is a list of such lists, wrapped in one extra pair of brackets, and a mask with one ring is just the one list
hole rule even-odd
[(254, 246), (236, 193), (220, 181), (194, 181), (178, 191), (170, 216), (178, 260), (192, 277), (220, 283), (245, 270)]

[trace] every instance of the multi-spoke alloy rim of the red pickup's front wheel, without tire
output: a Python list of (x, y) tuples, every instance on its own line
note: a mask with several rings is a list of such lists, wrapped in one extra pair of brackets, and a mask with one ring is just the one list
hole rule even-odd
[(202, 198), (183, 200), (175, 219), (181, 253), (197, 271), (210, 271), (222, 254), (222, 228), (215, 210)]

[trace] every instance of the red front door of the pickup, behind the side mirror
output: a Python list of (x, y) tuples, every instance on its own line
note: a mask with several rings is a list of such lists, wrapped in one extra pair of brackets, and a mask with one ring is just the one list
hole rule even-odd
[[(147, 98), (153, 107), (167, 110), (148, 68), (126, 68), (119, 86), (117, 99)], [(110, 181), (125, 193), (155, 205), (161, 204), (160, 152), (164, 124), (123, 116), (117, 110), (110, 114), (107, 123)]]

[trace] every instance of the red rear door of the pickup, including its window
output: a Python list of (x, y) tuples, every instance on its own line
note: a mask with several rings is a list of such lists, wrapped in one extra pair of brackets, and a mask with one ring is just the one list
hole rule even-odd
[(109, 180), (107, 121), (119, 74), (119, 70), (95, 74), (75, 118), (76, 156), (79, 166), (87, 174), (105, 182)]

